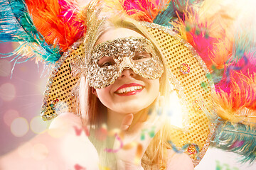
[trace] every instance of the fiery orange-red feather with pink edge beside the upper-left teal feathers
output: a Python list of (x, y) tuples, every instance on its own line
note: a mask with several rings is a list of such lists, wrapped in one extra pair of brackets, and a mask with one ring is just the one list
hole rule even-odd
[(78, 4), (68, 0), (26, 0), (38, 31), (48, 44), (65, 50), (85, 35), (85, 23), (79, 16)]

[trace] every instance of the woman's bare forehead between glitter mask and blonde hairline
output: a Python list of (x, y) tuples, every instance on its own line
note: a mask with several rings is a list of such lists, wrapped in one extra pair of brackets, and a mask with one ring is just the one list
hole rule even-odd
[(127, 28), (114, 28), (105, 31), (100, 38), (97, 40), (95, 45), (105, 42), (107, 40), (116, 40), (117, 38), (128, 38), (128, 37), (136, 37), (136, 38), (144, 38), (143, 35), (137, 33), (134, 30), (130, 30)]

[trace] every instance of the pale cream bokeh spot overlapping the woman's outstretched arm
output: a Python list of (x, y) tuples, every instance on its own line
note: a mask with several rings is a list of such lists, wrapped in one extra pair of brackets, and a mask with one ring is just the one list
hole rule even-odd
[(46, 147), (46, 145), (43, 145), (41, 143), (38, 143), (36, 145), (33, 145), (33, 152), (32, 157), (38, 161), (46, 159), (48, 157), (49, 150)]

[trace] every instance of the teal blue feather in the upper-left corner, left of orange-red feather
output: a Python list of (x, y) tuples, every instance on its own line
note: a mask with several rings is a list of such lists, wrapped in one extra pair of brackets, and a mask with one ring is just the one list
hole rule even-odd
[[(40, 56), (45, 62), (58, 61), (60, 49), (48, 45), (36, 30), (23, 0), (1, 0), (0, 6), (0, 42), (23, 42), (20, 47), (31, 47), (34, 55)], [(17, 51), (11, 55), (16, 55)], [(14, 57), (16, 60), (19, 58)]]

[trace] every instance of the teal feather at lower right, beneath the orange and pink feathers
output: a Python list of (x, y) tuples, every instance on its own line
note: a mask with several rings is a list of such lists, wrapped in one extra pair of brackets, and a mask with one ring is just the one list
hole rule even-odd
[(256, 127), (242, 123), (220, 121), (215, 130), (212, 147), (242, 155), (241, 162), (254, 162), (256, 158)]

